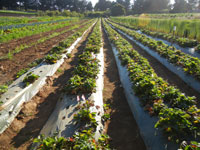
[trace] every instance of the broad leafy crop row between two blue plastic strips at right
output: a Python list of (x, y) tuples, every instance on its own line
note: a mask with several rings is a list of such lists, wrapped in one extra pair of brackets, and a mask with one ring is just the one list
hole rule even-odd
[(134, 93), (150, 115), (159, 117), (155, 128), (162, 129), (168, 140), (176, 142), (198, 137), (200, 109), (195, 105), (195, 97), (185, 96), (158, 77), (148, 60), (140, 56), (130, 43), (105, 22), (104, 28), (118, 49), (121, 64), (127, 67)]

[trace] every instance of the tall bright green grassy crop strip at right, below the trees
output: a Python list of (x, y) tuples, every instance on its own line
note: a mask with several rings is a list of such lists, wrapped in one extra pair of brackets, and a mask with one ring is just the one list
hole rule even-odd
[(199, 20), (183, 19), (155, 19), (143, 17), (113, 17), (118, 22), (126, 22), (127, 25), (139, 27), (156, 32), (173, 34), (173, 27), (176, 26), (175, 35), (200, 41)]

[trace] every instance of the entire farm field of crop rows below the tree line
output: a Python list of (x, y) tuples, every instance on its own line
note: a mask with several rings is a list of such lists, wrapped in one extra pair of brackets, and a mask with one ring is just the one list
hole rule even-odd
[(176, 17), (0, 17), (0, 149), (196, 150), (200, 22)]

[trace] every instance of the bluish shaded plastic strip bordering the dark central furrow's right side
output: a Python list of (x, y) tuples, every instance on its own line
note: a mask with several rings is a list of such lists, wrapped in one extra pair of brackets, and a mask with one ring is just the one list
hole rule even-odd
[[(106, 31), (106, 30), (105, 30)], [(107, 33), (107, 32), (106, 32)], [(132, 89), (132, 83), (129, 78), (127, 67), (121, 65), (121, 61), (118, 58), (117, 48), (111, 43), (111, 47), (115, 56), (120, 81), (124, 88), (124, 93), (128, 104), (131, 108), (132, 114), (137, 122), (140, 135), (142, 136), (146, 148), (148, 150), (172, 150), (178, 149), (178, 145), (169, 142), (162, 134), (161, 130), (154, 128), (154, 125), (158, 121), (157, 117), (151, 117), (140, 104), (140, 100)]]

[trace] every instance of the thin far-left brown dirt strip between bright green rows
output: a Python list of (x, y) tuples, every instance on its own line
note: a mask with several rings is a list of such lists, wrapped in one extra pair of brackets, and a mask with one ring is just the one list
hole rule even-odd
[[(86, 22), (86, 20), (80, 21), (79, 24), (82, 24), (84, 22)], [(75, 23), (75, 24), (77, 24), (77, 23)], [(11, 40), (11, 41), (6, 42), (6, 43), (1, 43), (0, 44), (0, 56), (7, 55), (9, 51), (14, 50), (17, 46), (20, 46), (22, 44), (30, 44), (30, 42), (31, 43), (36, 42), (40, 38), (48, 37), (54, 32), (61, 32), (63, 30), (67, 30), (70, 27), (74, 26), (75, 24), (65, 26), (65, 27), (62, 27), (62, 28), (59, 28), (59, 29), (51, 30), (51, 31), (48, 31), (48, 32), (44, 32), (44, 33), (40, 33), (40, 34), (36, 34), (36, 35), (24, 37), (24, 38), (20, 38), (20, 39), (14, 39), (14, 40)]]

